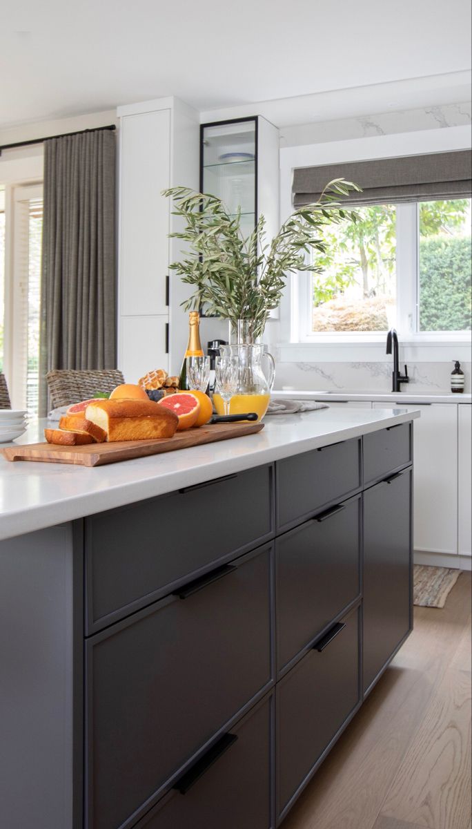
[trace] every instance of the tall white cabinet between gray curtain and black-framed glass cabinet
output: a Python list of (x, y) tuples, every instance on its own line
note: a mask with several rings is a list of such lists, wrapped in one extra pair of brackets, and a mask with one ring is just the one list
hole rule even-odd
[(199, 116), (176, 98), (118, 108), (118, 367), (136, 382), (172, 371), (185, 350), (185, 287), (170, 275), (181, 255), (167, 187), (198, 188)]

